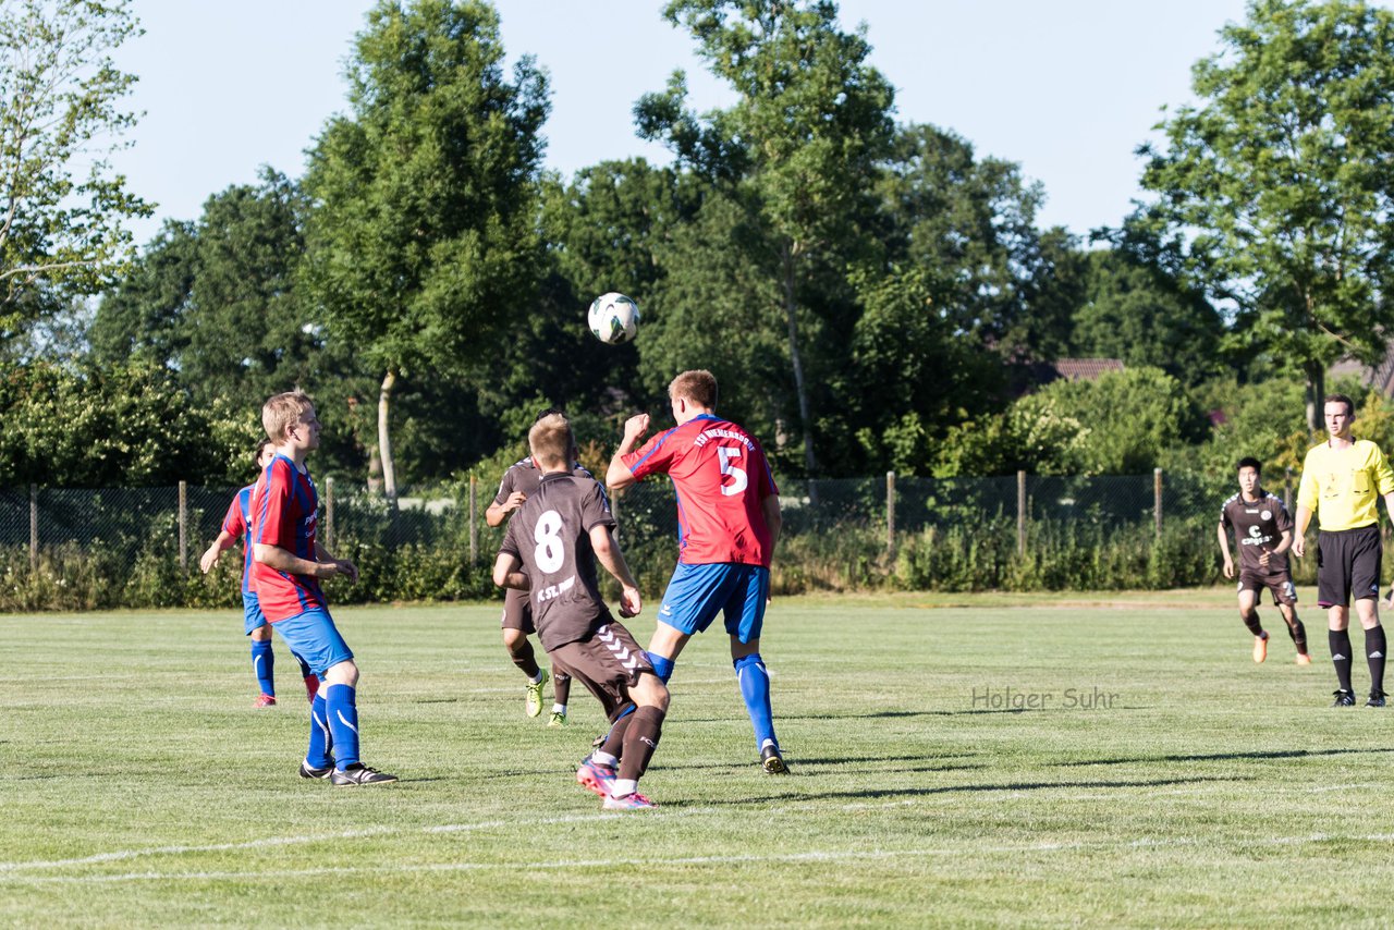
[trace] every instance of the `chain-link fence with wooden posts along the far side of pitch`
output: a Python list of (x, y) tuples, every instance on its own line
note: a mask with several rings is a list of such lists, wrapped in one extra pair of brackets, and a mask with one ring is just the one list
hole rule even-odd
[[(1291, 509), (1291, 478), (1273, 488)], [(498, 597), (495, 485), (461, 481), (378, 494), (321, 482), (321, 541), (360, 583), (335, 602)], [(846, 478), (781, 484), (779, 593), (849, 588), (1112, 590), (1211, 584), (1214, 527), (1231, 475)], [(0, 609), (238, 602), (241, 549), (204, 576), (237, 488), (0, 489)], [(672, 485), (648, 480), (613, 502), (644, 591), (677, 554)], [(1299, 580), (1305, 580), (1298, 566)]]

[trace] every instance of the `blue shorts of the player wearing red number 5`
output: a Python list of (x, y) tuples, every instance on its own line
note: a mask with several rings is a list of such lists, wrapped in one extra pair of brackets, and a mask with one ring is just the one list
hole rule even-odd
[(691, 636), (726, 615), (726, 632), (742, 643), (760, 639), (769, 598), (769, 569), (758, 565), (677, 563), (658, 608), (658, 622)]

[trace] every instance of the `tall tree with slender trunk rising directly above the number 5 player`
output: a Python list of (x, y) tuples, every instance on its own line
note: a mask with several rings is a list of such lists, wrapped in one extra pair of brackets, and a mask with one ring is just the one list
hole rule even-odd
[(686, 75), (640, 99), (640, 135), (665, 141), (680, 163), (719, 184), (757, 233), (749, 259), (774, 284), (799, 406), (804, 470), (818, 473), (817, 416), (802, 330), (815, 325), (807, 293), (820, 264), (842, 268), (870, 245), (875, 165), (892, 135), (894, 92), (866, 63), (864, 29), (843, 32), (836, 4), (789, 0), (671, 0), (664, 11), (697, 39), (711, 71), (739, 102), (698, 117)]

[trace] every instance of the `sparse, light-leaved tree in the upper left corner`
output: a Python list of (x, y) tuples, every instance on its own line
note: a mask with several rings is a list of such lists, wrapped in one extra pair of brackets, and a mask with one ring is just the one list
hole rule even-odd
[(112, 53), (138, 32), (127, 0), (0, 4), (0, 340), (110, 283), (121, 222), (152, 212), (106, 160), (135, 124)]

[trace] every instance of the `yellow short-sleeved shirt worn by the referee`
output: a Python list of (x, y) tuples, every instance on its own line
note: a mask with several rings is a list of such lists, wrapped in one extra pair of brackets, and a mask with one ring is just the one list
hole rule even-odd
[(1379, 501), (1394, 491), (1394, 471), (1380, 448), (1356, 439), (1349, 449), (1323, 442), (1308, 449), (1298, 485), (1298, 506), (1315, 510), (1327, 531), (1379, 523)]

